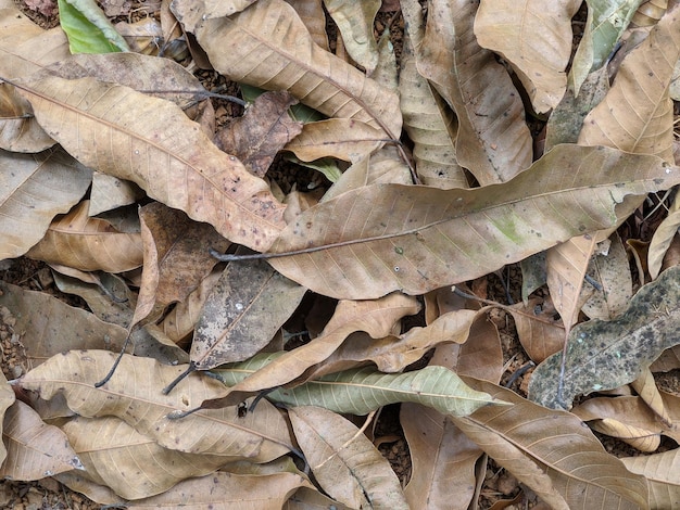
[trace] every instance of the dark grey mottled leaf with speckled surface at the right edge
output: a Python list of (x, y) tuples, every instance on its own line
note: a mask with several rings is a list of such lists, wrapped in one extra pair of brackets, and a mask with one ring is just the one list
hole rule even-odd
[(529, 397), (545, 407), (567, 409), (578, 394), (634, 381), (662, 350), (678, 343), (678, 279), (680, 266), (667, 269), (641, 288), (616, 319), (594, 319), (574, 328), (568, 339), (563, 400), (557, 395), (561, 354), (536, 368)]

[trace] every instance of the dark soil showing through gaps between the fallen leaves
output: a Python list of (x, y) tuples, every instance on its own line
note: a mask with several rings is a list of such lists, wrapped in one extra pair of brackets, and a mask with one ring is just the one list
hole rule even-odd
[[(16, 0), (16, 3), (37, 23), (43, 27), (52, 27), (58, 24), (55, 14), (43, 15), (26, 9), (24, 1)], [(133, 2), (138, 3), (138, 2)], [(401, 34), (403, 33), (403, 22), (399, 16), (394, 17), (393, 12), (380, 13), (378, 20), (380, 26), (391, 26), (393, 44), (398, 50), (401, 48)], [(199, 75), (201, 76), (201, 75)], [(215, 79), (214, 74), (205, 73), (202, 75), (204, 80)], [(216, 111), (223, 116), (234, 115), (232, 106), (223, 106), (216, 104)], [(540, 131), (541, 126), (532, 126), (536, 132)], [(278, 169), (285, 174), (285, 167)], [(312, 179), (311, 176), (307, 176)], [(285, 179), (285, 177), (282, 178)], [(515, 301), (520, 301), (521, 280), (519, 269), (511, 267), (504, 271), (505, 285), (498, 277), (489, 277), (488, 279), (488, 297), (501, 303), (508, 303), (507, 295)], [(41, 263), (20, 258), (16, 260), (0, 262), (0, 280), (9, 283), (21, 285), (25, 289), (47, 292), (63, 298), (73, 306), (85, 306), (78, 298), (62, 294), (54, 285), (50, 269)], [(513, 324), (512, 318), (504, 311), (495, 310), (492, 320), (499, 326), (503, 342), (503, 349), (506, 362), (505, 378), (502, 384), (509, 382), (513, 373), (521, 369), (529, 361), (522, 350)], [(416, 318), (417, 322), (418, 319)], [(26, 370), (25, 356), (21, 340), (12, 334), (13, 317), (10, 310), (0, 308), (0, 347), (2, 349), (1, 368), (8, 379), (21, 377)], [(419, 324), (413, 324), (419, 326)], [(530, 372), (527, 372), (527, 374)], [(680, 377), (678, 373), (665, 374), (660, 381), (665, 388), (676, 393), (680, 393)], [(526, 375), (519, 377), (512, 381), (509, 385), (519, 394), (526, 395)], [(379, 445), (380, 451), (391, 462), (395, 473), (399, 475), (403, 484), (408, 481), (411, 474), (411, 459), (408, 457), (408, 448), (403, 436), (403, 432), (399, 424), (399, 406), (389, 406), (385, 408), (374, 429), (374, 437), (376, 444)], [(639, 455), (628, 445), (615, 439), (600, 436), (605, 448), (616, 456)], [(505, 473), (504, 470), (498, 468), (493, 462), (489, 462), (484, 476), (484, 483), (480, 487), (481, 508), (542, 508), (537, 502), (536, 496), (530, 492), (522, 492), (518, 482)], [(503, 505), (503, 501), (506, 505)], [(537, 506), (538, 505), (538, 506)], [(12, 508), (16, 510), (38, 510), (38, 509), (73, 509), (89, 510), (100, 508), (99, 505), (90, 501), (85, 496), (74, 493), (61, 485), (52, 479), (46, 479), (34, 483), (3, 481), (0, 483), (0, 508)]]

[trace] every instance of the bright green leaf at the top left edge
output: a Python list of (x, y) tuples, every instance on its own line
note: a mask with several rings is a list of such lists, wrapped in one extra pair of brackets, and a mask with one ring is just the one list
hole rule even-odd
[(59, 21), (71, 53), (130, 51), (95, 0), (59, 0)]

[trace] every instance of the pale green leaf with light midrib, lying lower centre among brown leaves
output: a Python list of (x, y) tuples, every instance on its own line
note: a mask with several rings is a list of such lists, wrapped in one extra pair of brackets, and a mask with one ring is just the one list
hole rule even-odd
[[(225, 384), (232, 386), (272, 359), (255, 356), (231, 369), (213, 370)], [(293, 388), (267, 394), (270, 400), (288, 406), (316, 406), (335, 412), (363, 416), (382, 406), (413, 401), (443, 415), (467, 416), (489, 404), (506, 403), (467, 386), (458, 375), (444, 367), (425, 367), (406, 373), (382, 373), (373, 367), (344, 370), (324, 375)]]

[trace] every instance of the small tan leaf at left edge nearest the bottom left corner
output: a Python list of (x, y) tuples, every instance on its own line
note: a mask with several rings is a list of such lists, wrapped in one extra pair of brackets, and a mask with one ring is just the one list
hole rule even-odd
[(45, 423), (21, 400), (4, 415), (2, 439), (8, 454), (0, 476), (28, 482), (83, 469), (66, 435), (56, 426)]

